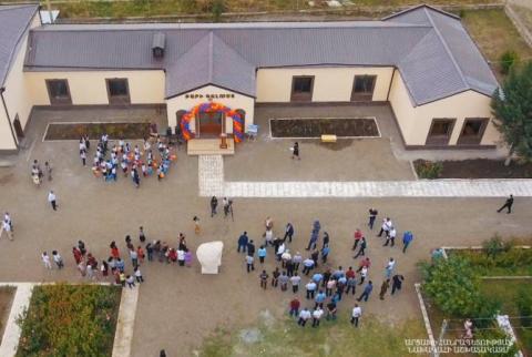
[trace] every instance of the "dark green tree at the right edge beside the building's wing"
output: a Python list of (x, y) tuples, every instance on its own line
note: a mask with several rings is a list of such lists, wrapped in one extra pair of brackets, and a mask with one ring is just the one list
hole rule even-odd
[(505, 165), (513, 154), (532, 161), (532, 62), (521, 70), (512, 68), (502, 89), (497, 89), (491, 101), (495, 128), (510, 146)]

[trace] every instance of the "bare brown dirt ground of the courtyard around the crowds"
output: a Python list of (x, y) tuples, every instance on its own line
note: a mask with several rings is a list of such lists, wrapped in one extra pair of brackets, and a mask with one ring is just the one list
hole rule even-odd
[[(29, 141), (42, 137), (39, 128), (47, 119), (39, 120), (41, 123), (32, 126), (34, 130), (30, 132)], [(268, 151), (267, 143), (263, 145), (265, 152)], [(280, 151), (282, 146), (287, 145), (279, 144), (275, 150)], [(305, 146), (301, 145), (303, 155), (308, 149)], [(219, 275), (201, 275), (196, 262), (191, 268), (158, 262), (142, 266), (146, 282), (140, 287), (133, 357), (156, 356), (161, 348), (165, 348), (168, 356), (187, 357), (216, 327), (238, 328), (253, 324), (259, 312), (265, 309), (275, 317), (286, 312), (291, 293), (262, 292), (258, 272), (247, 274), (244, 255), (236, 253), (236, 239), (243, 231), (247, 231), (256, 242), (262, 241), (266, 216), (274, 218), (276, 234), (282, 233), (287, 221), (295, 225), (296, 235), (290, 249), (301, 253), (305, 252), (313, 220), (319, 218), (323, 230), (331, 237), (331, 266), (358, 265), (350, 251), (352, 233), (357, 227), (365, 228), (370, 206), (379, 210), (378, 220), (389, 215), (396, 222), (399, 235), (405, 230), (412, 231), (415, 241), (407, 254), (397, 246), (382, 247), (381, 238), (375, 236), (376, 232), (367, 233), (368, 255), (374, 262), (369, 276), (376, 289), (382, 283), (383, 266), (391, 256), (397, 261), (397, 272), (406, 276), (405, 288), (398, 296), (381, 302), (377, 297), (378, 292), (374, 292), (369, 302), (364, 303), (367, 314), (375, 314), (385, 322), (419, 316), (413, 290), (413, 283), (420, 278), (416, 262), (428, 258), (430, 249), (441, 245), (479, 244), (494, 232), (503, 236), (526, 235), (532, 228), (532, 200), (521, 197), (515, 198), (515, 212), (511, 215), (497, 214), (495, 210), (501, 204), (501, 200), (497, 198), (236, 200), (235, 221), (231, 222), (222, 216), (208, 216), (207, 198), (197, 196), (197, 157), (186, 156), (183, 151), (177, 153), (176, 166), (171, 169), (165, 180), (143, 180), (137, 190), (123, 177), (117, 183), (104, 183), (93, 177), (89, 167), (81, 166), (76, 142), (37, 141), (29, 147), (32, 147), (31, 153), (21, 152), (14, 167), (0, 169), (0, 211), (9, 211), (16, 226), (14, 242), (0, 239), (0, 280), (78, 282), (81, 278), (70, 254), (78, 239), (83, 239), (89, 251), (102, 259), (108, 257), (109, 243), (113, 239), (121, 251), (125, 249), (126, 234), (131, 234), (137, 243), (140, 225), (145, 227), (149, 239), (165, 239), (174, 246), (177, 234), (183, 232), (193, 252), (203, 242), (221, 239), (225, 243)], [(324, 150), (304, 159), (309, 165), (314, 162), (318, 166), (324, 160), (337, 157), (334, 154)], [(263, 166), (273, 167), (277, 164), (275, 161), (284, 161), (286, 167), (299, 164), (285, 155), (260, 157), (262, 161), (256, 162), (239, 151), (231, 160), (239, 160), (243, 170), (250, 175), (256, 175), (255, 172), (260, 172)], [(53, 181), (44, 182), (39, 188), (29, 177), (33, 159), (41, 162), (51, 160), (54, 167)], [(334, 170), (341, 166), (336, 165)], [(226, 174), (227, 170), (226, 166)], [(357, 166), (344, 165), (342, 170), (346, 175), (352, 176)], [(379, 176), (377, 171), (368, 169), (368, 175), (370, 173)], [(278, 174), (278, 180), (287, 176), (282, 172)], [(298, 173), (300, 177), (311, 177), (311, 171), (305, 173), (305, 170)], [(332, 173), (331, 178), (335, 175)], [(51, 188), (58, 195), (58, 212), (53, 212), (47, 202), (47, 193)], [(193, 232), (194, 215), (202, 218), (200, 236)], [(40, 254), (52, 249), (63, 255), (65, 269), (50, 272), (43, 267)], [(272, 251), (268, 251), (265, 268), (270, 274), (274, 266)], [(131, 272), (130, 262), (126, 268)], [(299, 296), (303, 294), (299, 293)], [(354, 303), (352, 296), (341, 303), (340, 318), (346, 318), (342, 314), (347, 314)]]

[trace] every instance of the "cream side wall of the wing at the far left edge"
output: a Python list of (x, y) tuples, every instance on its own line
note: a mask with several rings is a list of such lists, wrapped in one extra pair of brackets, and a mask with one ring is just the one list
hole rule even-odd
[[(40, 24), (39, 14), (35, 13), (30, 23), (30, 29), (39, 27)], [(28, 32), (19, 43), (18, 52), (11, 63), (8, 75), (6, 76), (6, 82), (3, 83), (3, 86), (6, 88), (3, 98), (6, 100), (6, 106), (8, 108), (11, 123), (13, 123), (18, 115), (22, 128), (25, 128), (32, 108), (31, 94), (29, 93), (29, 88), (24, 82), (24, 75), (22, 72), (27, 48)], [(0, 106), (0, 150), (14, 150), (17, 146), (13, 142), (11, 130), (9, 129), (8, 120), (6, 119), (6, 113), (2, 106)]]

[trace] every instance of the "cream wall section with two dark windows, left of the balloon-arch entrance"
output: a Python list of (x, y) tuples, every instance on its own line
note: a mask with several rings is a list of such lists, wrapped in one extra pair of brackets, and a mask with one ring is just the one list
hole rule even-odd
[(164, 71), (25, 72), (34, 105), (50, 105), (47, 80), (68, 80), (73, 105), (109, 104), (106, 79), (125, 78), (132, 104), (164, 103)]

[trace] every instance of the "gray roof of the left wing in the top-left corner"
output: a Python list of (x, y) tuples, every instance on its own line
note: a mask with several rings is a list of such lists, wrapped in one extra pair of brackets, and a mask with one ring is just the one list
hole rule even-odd
[(22, 34), (37, 9), (37, 4), (0, 7), (0, 86), (6, 81)]

